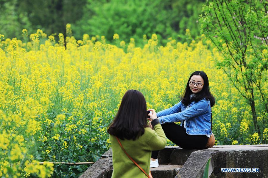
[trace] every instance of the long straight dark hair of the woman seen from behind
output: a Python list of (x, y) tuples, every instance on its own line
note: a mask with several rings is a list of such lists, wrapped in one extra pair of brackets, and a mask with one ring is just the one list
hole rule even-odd
[(120, 139), (135, 140), (144, 134), (144, 127), (149, 127), (145, 98), (138, 90), (128, 90), (107, 131)]

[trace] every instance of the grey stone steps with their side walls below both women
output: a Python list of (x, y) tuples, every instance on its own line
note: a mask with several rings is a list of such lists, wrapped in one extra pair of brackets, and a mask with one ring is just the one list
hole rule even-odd
[[(268, 177), (268, 145), (218, 145), (209, 149), (182, 149), (165, 147), (159, 152), (160, 164), (183, 165), (180, 168), (153, 170), (153, 177), (202, 177), (207, 160), (210, 178)], [(220, 168), (260, 168), (259, 173), (222, 173)], [(89, 167), (80, 177), (109, 178), (112, 174), (112, 150)]]

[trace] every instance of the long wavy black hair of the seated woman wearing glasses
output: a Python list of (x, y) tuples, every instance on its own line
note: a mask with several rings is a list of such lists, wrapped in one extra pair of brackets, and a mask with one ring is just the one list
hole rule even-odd
[(208, 76), (205, 72), (203, 71), (195, 71), (194, 73), (191, 74), (191, 76), (189, 77), (187, 84), (186, 84), (186, 88), (184, 90), (184, 93), (181, 97), (181, 102), (184, 105), (188, 105), (191, 100), (190, 100), (190, 95), (193, 94), (190, 86), (189, 86), (189, 81), (191, 80), (193, 75), (200, 75), (203, 80), (204, 80), (204, 86), (202, 88), (202, 90), (200, 92), (198, 92), (197, 94), (195, 94), (195, 97), (193, 97), (192, 101), (200, 101), (203, 98), (207, 99), (210, 101), (211, 107), (215, 104), (215, 98), (213, 97), (213, 95), (210, 93), (209, 90), (209, 84), (208, 84)]

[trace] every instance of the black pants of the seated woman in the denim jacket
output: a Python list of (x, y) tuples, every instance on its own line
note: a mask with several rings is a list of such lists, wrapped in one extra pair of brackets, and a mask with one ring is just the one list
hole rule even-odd
[[(205, 149), (208, 143), (206, 135), (188, 135), (183, 126), (175, 123), (166, 123), (161, 125), (166, 137), (174, 144), (183, 149)], [(152, 151), (152, 158), (156, 159), (158, 151)]]

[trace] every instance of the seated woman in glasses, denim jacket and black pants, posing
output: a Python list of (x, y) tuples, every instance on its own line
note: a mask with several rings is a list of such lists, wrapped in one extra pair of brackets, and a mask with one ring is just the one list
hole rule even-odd
[[(166, 137), (179, 147), (206, 149), (208, 139), (214, 139), (214, 135), (211, 136), (211, 107), (215, 103), (215, 98), (210, 93), (205, 72), (195, 71), (191, 74), (181, 99), (176, 105), (158, 113), (149, 109), (155, 113), (151, 118), (159, 119)], [(174, 122), (181, 124), (177, 125)], [(214, 145), (213, 141), (212, 144)], [(150, 167), (158, 167), (157, 155), (158, 151), (152, 152)]]

